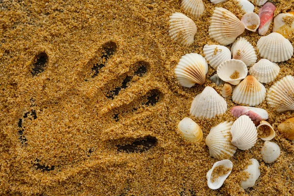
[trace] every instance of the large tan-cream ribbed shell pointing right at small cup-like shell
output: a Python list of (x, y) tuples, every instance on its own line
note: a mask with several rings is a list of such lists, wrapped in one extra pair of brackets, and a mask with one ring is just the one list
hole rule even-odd
[(229, 10), (216, 7), (208, 28), (209, 36), (221, 45), (229, 45), (245, 30), (241, 21)]

